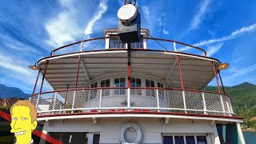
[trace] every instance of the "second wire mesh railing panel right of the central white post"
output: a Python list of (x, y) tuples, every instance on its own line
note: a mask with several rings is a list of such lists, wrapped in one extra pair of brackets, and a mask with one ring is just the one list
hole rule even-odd
[(164, 97), (159, 97), (160, 108), (184, 109), (182, 90), (163, 90)]

